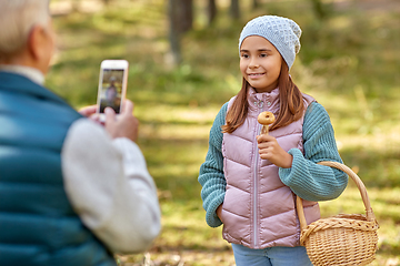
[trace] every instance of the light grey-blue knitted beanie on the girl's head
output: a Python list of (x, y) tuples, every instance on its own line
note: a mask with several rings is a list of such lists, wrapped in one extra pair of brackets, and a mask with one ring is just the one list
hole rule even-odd
[(250, 20), (239, 38), (239, 50), (247, 37), (259, 35), (270, 41), (280, 52), (289, 69), (300, 51), (300, 27), (291, 19), (277, 16), (262, 16)]

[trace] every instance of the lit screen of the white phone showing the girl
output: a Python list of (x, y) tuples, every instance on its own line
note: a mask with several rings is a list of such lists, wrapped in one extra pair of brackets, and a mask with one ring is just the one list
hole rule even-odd
[(107, 106), (120, 113), (122, 99), (123, 69), (102, 69), (100, 84), (100, 113), (104, 113)]

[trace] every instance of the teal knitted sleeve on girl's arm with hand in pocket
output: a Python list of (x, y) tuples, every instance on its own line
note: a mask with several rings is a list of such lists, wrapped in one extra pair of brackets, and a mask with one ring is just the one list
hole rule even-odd
[(227, 108), (228, 103), (221, 108), (212, 124), (206, 162), (201, 165), (199, 173), (199, 183), (202, 186), (201, 198), (203, 201), (203, 208), (206, 209), (206, 222), (211, 227), (218, 227), (222, 224), (216, 211), (223, 202), (227, 186), (221, 152), (223, 137), (221, 125), (226, 123)]

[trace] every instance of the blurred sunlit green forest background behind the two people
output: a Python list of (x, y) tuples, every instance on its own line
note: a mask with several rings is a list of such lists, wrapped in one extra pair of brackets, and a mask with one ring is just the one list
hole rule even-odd
[[(216, 114), (241, 86), (238, 39), (261, 14), (303, 30), (294, 82), (329, 112), (340, 154), (367, 186), (380, 224), (371, 265), (400, 265), (399, 0), (52, 0), (58, 51), (47, 86), (96, 104), (103, 59), (130, 62), (128, 98), (159, 188), (162, 233), (120, 265), (234, 265), (204, 221), (197, 181)], [(364, 213), (357, 187), (322, 216)]]

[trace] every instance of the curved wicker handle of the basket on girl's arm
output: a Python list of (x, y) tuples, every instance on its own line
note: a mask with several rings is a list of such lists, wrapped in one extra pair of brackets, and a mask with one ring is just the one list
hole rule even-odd
[[(371, 203), (370, 203), (368, 194), (367, 194), (366, 186), (362, 183), (361, 178), (351, 168), (349, 168), (344, 164), (341, 164), (338, 162), (330, 162), (330, 161), (319, 162), (318, 164), (334, 167), (334, 168), (341, 170), (344, 173), (347, 173), (356, 182), (356, 185), (360, 191), (362, 202), (366, 206), (367, 221), (372, 222), (376, 219), (372, 207), (371, 207)], [(301, 197), (297, 196), (296, 205), (297, 205), (297, 211), (298, 211), (298, 215), (299, 215), (300, 228), (301, 228), (301, 231), (303, 231), (307, 227), (307, 222), (306, 222), (304, 209), (303, 209)]]

